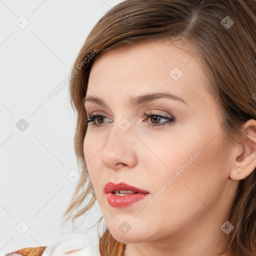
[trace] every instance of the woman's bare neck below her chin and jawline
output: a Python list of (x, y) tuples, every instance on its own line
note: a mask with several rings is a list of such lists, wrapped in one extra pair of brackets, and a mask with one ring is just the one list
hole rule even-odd
[(185, 223), (177, 232), (157, 240), (143, 241), (143, 237), (134, 233), (133, 236), (138, 242), (127, 243), (123, 255), (227, 256), (226, 234), (219, 228), (225, 221), (216, 221), (213, 214), (210, 218), (211, 221), (200, 218), (190, 225)]

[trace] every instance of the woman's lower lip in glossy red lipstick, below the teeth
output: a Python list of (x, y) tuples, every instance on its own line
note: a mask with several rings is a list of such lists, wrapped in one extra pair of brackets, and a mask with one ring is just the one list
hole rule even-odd
[(135, 194), (127, 194), (127, 195), (115, 195), (111, 192), (106, 193), (106, 198), (108, 203), (113, 207), (125, 207), (136, 201), (142, 200), (149, 193), (135, 193)]

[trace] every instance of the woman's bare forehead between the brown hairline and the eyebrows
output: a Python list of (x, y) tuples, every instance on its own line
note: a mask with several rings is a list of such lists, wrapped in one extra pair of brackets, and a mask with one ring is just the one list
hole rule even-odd
[(164, 91), (181, 97), (187, 90), (191, 92), (188, 86), (200, 91), (203, 72), (195, 53), (190, 46), (163, 41), (123, 45), (105, 51), (92, 64), (87, 94), (130, 98)]

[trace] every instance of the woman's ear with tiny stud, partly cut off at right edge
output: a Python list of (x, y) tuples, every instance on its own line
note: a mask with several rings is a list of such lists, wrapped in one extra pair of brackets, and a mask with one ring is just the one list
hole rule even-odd
[(233, 148), (233, 164), (229, 177), (240, 180), (256, 167), (256, 120), (249, 119), (242, 125), (243, 141)]

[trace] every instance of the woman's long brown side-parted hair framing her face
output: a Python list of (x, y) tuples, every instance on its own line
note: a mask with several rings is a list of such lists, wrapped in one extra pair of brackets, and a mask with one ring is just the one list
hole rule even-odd
[[(241, 124), (256, 119), (256, 100), (252, 96), (256, 93), (255, 29), (255, 0), (125, 0), (99, 19), (79, 51), (70, 77), (71, 105), (77, 111), (74, 147), (81, 177), (64, 213), (66, 220), (73, 221), (84, 214), (96, 200), (83, 155), (86, 133), (83, 100), (93, 61), (117, 46), (150, 40), (183, 41), (191, 45), (204, 68), (205, 88), (220, 106), (226, 141), (234, 143), (243, 139)], [(78, 211), (89, 194), (90, 200)], [(78, 212), (71, 215), (75, 210)], [(256, 255), (255, 214), (254, 169), (239, 180), (228, 216), (234, 226), (227, 236), (230, 255)], [(120, 256), (123, 248), (124, 244), (115, 240), (106, 228), (99, 239), (101, 255)]]

